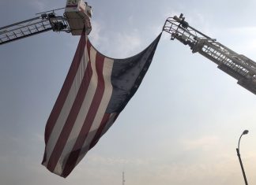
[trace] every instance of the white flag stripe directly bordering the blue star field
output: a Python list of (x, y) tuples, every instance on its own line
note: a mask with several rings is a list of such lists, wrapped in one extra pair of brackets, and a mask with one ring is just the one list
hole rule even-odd
[(96, 131), (100, 127), (100, 123), (104, 117), (104, 114), (106, 113), (107, 105), (111, 99), (111, 94), (113, 91), (112, 83), (111, 83), (111, 73), (113, 68), (114, 60), (105, 57), (104, 60), (104, 83), (105, 83), (105, 89), (104, 89), (104, 95), (100, 102), (99, 109), (97, 110), (96, 117), (93, 120), (92, 127), (90, 128), (90, 131), (88, 132), (88, 136), (85, 139), (84, 145), (81, 148), (81, 152), (79, 154), (79, 157), (77, 158), (76, 165), (79, 161), (85, 156), (87, 153), (89, 146), (92, 142), (92, 139), (96, 135)]

